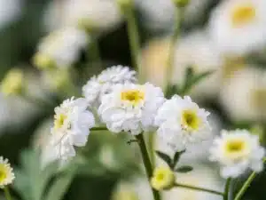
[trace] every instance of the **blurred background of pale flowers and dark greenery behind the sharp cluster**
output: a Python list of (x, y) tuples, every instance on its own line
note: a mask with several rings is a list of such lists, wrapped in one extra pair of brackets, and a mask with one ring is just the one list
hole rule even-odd
[[(222, 129), (246, 128), (259, 135), (266, 145), (265, 1), (191, 0), (176, 42), (171, 77), (167, 77), (166, 69), (170, 36), (175, 28), (174, 4), (171, 0), (135, 0), (134, 5), (145, 80), (166, 89), (166, 80), (182, 84), (188, 67), (195, 73), (213, 71), (192, 88), (190, 95), (211, 112), (214, 136)], [(45, 151), (54, 108), (66, 98), (82, 96), (82, 85), (104, 68), (132, 66), (127, 24), (115, 0), (0, 0), (0, 11), (2, 84), (15, 68), (22, 72), (27, 91), (23, 97), (7, 95), (2, 86), (0, 155), (9, 158), (18, 172), (27, 171), (33, 167), (32, 160), (40, 162), (40, 157), (33, 152), (37, 148)], [(86, 34), (80, 36), (73, 28), (85, 28)], [(101, 64), (93, 52), (96, 44)], [(43, 57), (37, 60), (36, 52), (45, 51), (51, 52), (54, 58), (63, 57), (59, 59), (63, 67), (45, 70), (43, 63), (58, 61)], [(138, 149), (134, 144), (128, 145), (128, 140), (127, 135), (92, 132), (87, 146), (79, 149), (75, 158), (75, 164), (80, 167), (78, 172), (71, 181), (62, 180), (67, 183), (67, 192), (61, 199), (152, 199)], [(177, 179), (222, 191), (224, 180), (219, 177), (218, 167), (207, 160), (210, 144), (211, 141), (200, 144), (182, 157), (181, 162), (194, 166), (194, 171), (178, 174)], [(155, 148), (168, 152), (160, 140), (156, 140)], [(45, 159), (45, 154), (41, 159)], [(155, 162), (162, 164), (157, 158)], [(232, 193), (245, 178), (234, 181)], [(265, 199), (265, 183), (266, 174), (262, 172), (244, 199)], [(27, 176), (20, 179), (20, 185), (24, 184), (24, 193), (34, 187)], [(23, 191), (17, 188), (21, 187), (12, 188), (17, 199), (36, 200), (21, 196)], [(163, 197), (221, 199), (180, 188), (164, 192)]]

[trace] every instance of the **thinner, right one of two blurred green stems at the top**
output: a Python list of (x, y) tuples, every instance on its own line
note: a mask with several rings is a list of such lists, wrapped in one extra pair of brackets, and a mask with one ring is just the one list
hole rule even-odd
[(174, 30), (174, 34), (171, 37), (170, 43), (169, 43), (169, 54), (168, 54), (168, 63), (167, 63), (168, 70), (167, 70), (167, 76), (166, 76), (167, 86), (170, 84), (171, 76), (173, 75), (176, 42), (180, 34), (181, 22), (183, 20), (183, 16), (184, 16), (184, 8), (176, 7), (176, 27)]

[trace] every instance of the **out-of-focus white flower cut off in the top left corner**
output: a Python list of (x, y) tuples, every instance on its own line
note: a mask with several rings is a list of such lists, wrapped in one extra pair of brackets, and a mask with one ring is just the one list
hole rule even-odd
[(0, 28), (20, 17), (23, 0), (0, 0)]

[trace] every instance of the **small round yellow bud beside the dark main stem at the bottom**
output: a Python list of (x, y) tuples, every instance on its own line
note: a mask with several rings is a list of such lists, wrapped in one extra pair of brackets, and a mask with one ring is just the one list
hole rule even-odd
[(157, 190), (172, 188), (175, 183), (175, 173), (168, 167), (158, 167), (153, 172), (151, 184)]

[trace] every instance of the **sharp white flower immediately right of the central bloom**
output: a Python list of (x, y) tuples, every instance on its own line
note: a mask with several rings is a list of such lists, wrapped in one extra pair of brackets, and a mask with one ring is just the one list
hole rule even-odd
[(180, 150), (210, 137), (208, 115), (190, 97), (182, 99), (175, 95), (160, 107), (155, 124), (159, 126), (157, 132), (162, 140), (174, 150)]

